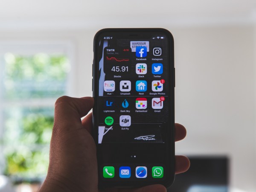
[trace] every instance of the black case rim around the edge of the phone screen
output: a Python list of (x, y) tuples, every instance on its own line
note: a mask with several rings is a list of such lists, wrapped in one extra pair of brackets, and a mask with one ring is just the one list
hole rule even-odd
[[(166, 29), (162, 29), (162, 28), (108, 28), (108, 29), (101, 29), (99, 30), (96, 35), (94, 36), (94, 40), (93, 40), (93, 82), (92, 82), (92, 89), (93, 89), (93, 97), (96, 98), (97, 94), (98, 94), (98, 90), (95, 89), (96, 87), (96, 83), (98, 83), (97, 79), (97, 71), (98, 71), (98, 67), (97, 67), (97, 63), (99, 61), (97, 61), (97, 41), (99, 38), (99, 35), (101, 35), (104, 32), (131, 32), (131, 33), (136, 33), (136, 32), (163, 32), (165, 33), (165, 35), (169, 38), (169, 50), (170, 50), (170, 54), (169, 54), (169, 61), (170, 61), (170, 71), (169, 74), (172, 74), (169, 78), (170, 81), (170, 97), (172, 97), (172, 102), (170, 102), (169, 104), (169, 109), (170, 109), (170, 129), (168, 130), (168, 135), (170, 136), (169, 139), (169, 143), (168, 143), (168, 148), (169, 148), (169, 152), (167, 152), (167, 160), (169, 162), (173, 162), (173, 163), (169, 163), (167, 171), (165, 171), (165, 174), (167, 175), (166, 179), (163, 181), (158, 181), (156, 180), (155, 182), (151, 182), (151, 181), (141, 181), (140, 183), (134, 183), (134, 182), (116, 182), (116, 181), (104, 181), (101, 180), (101, 178), (99, 177), (99, 188), (108, 188), (108, 187), (140, 187), (140, 186), (146, 186), (146, 185), (152, 185), (152, 184), (162, 184), (166, 187), (169, 187), (172, 185), (172, 183), (175, 180), (175, 99), (174, 99), (174, 93), (175, 93), (175, 67), (174, 67), (174, 40), (173, 40), (173, 36), (172, 34), (166, 30)], [(92, 134), (93, 134), (93, 139), (95, 140), (96, 143), (96, 147), (97, 147), (97, 158), (99, 157), (98, 154), (98, 132), (97, 132), (97, 128), (95, 125), (96, 122), (96, 118), (97, 118), (97, 114), (96, 114), (96, 106), (97, 106), (97, 100), (94, 100), (94, 106), (93, 106), (93, 130), (92, 130)], [(99, 167), (99, 166), (98, 166)], [(166, 173), (167, 172), (167, 173)], [(98, 169), (98, 175), (102, 174), (101, 170)]]

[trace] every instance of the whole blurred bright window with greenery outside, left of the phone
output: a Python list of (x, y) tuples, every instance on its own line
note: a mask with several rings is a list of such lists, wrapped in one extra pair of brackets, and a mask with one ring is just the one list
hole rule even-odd
[(65, 45), (17, 47), (0, 53), (0, 175), (38, 182), (47, 173), (54, 102), (67, 94), (70, 61)]

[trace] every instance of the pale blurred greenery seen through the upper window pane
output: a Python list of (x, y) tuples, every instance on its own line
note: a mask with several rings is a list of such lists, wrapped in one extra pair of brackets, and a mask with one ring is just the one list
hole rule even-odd
[(65, 55), (14, 55), (6, 53), (4, 95), (6, 100), (55, 98), (65, 93), (70, 70)]

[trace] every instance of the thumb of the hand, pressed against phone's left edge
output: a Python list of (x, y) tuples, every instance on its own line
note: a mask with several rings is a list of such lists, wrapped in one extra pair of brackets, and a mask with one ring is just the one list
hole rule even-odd
[[(93, 97), (74, 98), (62, 96), (55, 102), (54, 128), (67, 131), (81, 125), (81, 117), (93, 107)], [(64, 131), (64, 130), (63, 130)]]

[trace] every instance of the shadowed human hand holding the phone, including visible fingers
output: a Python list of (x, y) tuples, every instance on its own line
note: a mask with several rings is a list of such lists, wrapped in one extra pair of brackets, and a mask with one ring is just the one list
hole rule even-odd
[[(140, 188), (98, 189), (96, 145), (91, 136), (92, 97), (62, 96), (55, 103), (47, 177), (39, 192), (166, 192), (163, 185)], [(183, 125), (175, 124), (175, 141), (186, 137)], [(175, 156), (175, 173), (189, 169), (189, 159)]]

